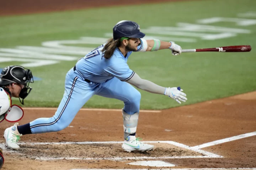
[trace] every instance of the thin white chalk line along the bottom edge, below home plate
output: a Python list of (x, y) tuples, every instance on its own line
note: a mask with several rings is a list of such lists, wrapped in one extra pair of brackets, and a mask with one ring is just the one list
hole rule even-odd
[[(123, 169), (71, 169), (71, 170), (123, 170)], [(125, 170), (149, 170), (149, 169), (125, 169)], [(256, 168), (161, 168), (150, 170), (256, 170)]]

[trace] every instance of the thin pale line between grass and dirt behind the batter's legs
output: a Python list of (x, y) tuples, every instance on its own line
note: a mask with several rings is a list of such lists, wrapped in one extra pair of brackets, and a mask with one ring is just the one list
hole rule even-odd
[[(57, 110), (57, 108), (22, 108), (23, 110)], [(122, 109), (93, 109), (93, 108), (81, 108), (82, 111), (119, 111), (122, 112)], [(140, 110), (140, 112), (145, 113), (161, 113), (161, 110)]]

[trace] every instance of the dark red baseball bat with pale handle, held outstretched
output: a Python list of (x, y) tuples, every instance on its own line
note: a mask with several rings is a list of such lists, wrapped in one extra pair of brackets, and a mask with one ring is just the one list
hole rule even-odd
[(236, 46), (222, 46), (217, 48), (203, 48), (203, 49), (185, 49), (182, 50), (182, 53), (188, 52), (207, 52), (207, 51), (215, 51), (215, 52), (249, 52), (251, 51), (250, 45), (236, 45)]

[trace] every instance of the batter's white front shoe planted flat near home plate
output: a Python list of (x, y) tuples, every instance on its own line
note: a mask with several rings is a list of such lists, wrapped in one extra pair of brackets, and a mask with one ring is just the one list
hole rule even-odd
[[(128, 139), (128, 140), (127, 140)], [(135, 136), (128, 136), (124, 141), (122, 148), (126, 152), (146, 152), (154, 148), (153, 145), (140, 142), (141, 138)]]

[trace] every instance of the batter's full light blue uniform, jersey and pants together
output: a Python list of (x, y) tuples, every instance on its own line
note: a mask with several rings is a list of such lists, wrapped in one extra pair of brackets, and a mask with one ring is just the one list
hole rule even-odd
[[(137, 51), (145, 50), (143, 41), (141, 40)], [(123, 109), (127, 114), (139, 113), (140, 92), (124, 82), (134, 75), (127, 65), (127, 59), (132, 52), (123, 56), (116, 48), (110, 59), (105, 59), (101, 52), (104, 45), (79, 60), (75, 71), (74, 68), (68, 71), (64, 95), (55, 115), (30, 122), (32, 133), (56, 132), (68, 127), (78, 111), (93, 95), (121, 100), (124, 102)], [(84, 79), (94, 83), (87, 83)]]

